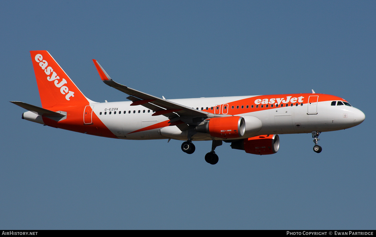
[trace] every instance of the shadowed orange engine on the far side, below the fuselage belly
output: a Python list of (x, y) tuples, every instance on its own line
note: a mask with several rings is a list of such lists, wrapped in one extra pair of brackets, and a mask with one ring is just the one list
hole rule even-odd
[(232, 149), (244, 150), (255, 155), (269, 155), (277, 153), (279, 150), (279, 136), (261, 135), (250, 137), (231, 143)]

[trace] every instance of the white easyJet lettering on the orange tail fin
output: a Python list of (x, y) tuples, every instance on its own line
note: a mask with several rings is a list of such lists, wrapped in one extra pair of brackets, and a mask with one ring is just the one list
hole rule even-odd
[(47, 80), (49, 82), (54, 81), (55, 86), (57, 88), (60, 88), (60, 92), (61, 94), (65, 95), (66, 100), (70, 100), (70, 97), (74, 97), (74, 92), (70, 91), (67, 86), (64, 86), (65, 84), (67, 84), (67, 80), (62, 78), (59, 82), (60, 77), (58, 76), (58, 74), (56, 74), (55, 71), (53, 71), (52, 67), (48, 66), (48, 62), (46, 60), (43, 60), (43, 56), (41, 54), (35, 55), (35, 61), (39, 63), (39, 66), (44, 70), (46, 75), (50, 75), (52, 72), (52, 75), (48, 76)]

